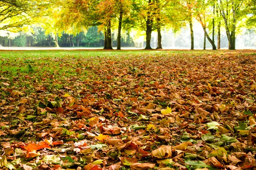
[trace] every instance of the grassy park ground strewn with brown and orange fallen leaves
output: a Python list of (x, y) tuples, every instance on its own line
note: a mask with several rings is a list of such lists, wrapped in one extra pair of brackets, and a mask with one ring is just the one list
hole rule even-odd
[(0, 168), (256, 168), (256, 51), (1, 51)]

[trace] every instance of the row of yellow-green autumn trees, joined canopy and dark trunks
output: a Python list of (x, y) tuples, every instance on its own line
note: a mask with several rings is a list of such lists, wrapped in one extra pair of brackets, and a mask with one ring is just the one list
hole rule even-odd
[(98, 26), (105, 35), (105, 49), (112, 49), (113, 30), (118, 31), (120, 49), (122, 30), (131, 29), (144, 32), (146, 49), (151, 49), (151, 34), (156, 31), (157, 48), (162, 48), (161, 30), (177, 31), (186, 22), (194, 49), (195, 20), (201, 23), (212, 49), (216, 49), (215, 33), (220, 46), (221, 27), (225, 28), (229, 49), (235, 49), (240, 29), (255, 28), (256, 22), (254, 0), (0, 0), (0, 10), (0, 29), (17, 32), (36, 24), (54, 37), (56, 46), (62, 34), (76, 35)]

